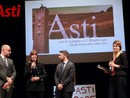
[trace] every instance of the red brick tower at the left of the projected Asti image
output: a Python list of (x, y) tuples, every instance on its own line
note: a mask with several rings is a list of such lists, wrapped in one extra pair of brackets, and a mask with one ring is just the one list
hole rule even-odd
[(49, 52), (48, 9), (43, 5), (33, 9), (33, 49), (38, 53)]

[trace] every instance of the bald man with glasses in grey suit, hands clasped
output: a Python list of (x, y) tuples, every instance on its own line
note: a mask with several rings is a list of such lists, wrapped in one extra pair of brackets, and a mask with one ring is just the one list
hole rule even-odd
[(9, 58), (11, 48), (4, 44), (1, 46), (0, 54), (0, 98), (11, 98), (16, 70), (13, 60)]

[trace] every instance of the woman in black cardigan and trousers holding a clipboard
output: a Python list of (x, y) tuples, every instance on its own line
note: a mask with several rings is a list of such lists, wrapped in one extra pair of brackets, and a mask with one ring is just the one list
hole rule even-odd
[(127, 71), (128, 61), (126, 54), (122, 51), (119, 40), (113, 42), (113, 58), (109, 61), (111, 69), (109, 81), (108, 98), (128, 98), (127, 97)]

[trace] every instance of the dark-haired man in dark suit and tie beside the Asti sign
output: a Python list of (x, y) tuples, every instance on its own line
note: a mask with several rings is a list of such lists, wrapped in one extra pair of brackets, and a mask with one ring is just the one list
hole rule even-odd
[(60, 63), (56, 67), (54, 80), (56, 84), (55, 98), (72, 98), (75, 91), (75, 65), (69, 61), (67, 50), (59, 51)]

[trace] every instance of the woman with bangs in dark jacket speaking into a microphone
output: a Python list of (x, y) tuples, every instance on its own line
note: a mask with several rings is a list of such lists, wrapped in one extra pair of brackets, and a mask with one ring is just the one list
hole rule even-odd
[(44, 64), (38, 61), (36, 50), (30, 52), (30, 61), (25, 65), (26, 92), (27, 98), (44, 98), (44, 80), (47, 72)]

